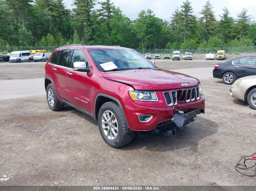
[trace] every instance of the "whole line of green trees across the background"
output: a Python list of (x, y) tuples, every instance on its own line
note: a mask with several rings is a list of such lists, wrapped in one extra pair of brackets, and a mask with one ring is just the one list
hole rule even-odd
[[(99, 9), (95, 5), (99, 4)], [(170, 20), (141, 10), (132, 21), (111, 0), (0, 0), (0, 46), (119, 45), (133, 49), (186, 49), (256, 45), (256, 23), (242, 9), (236, 18), (228, 8), (217, 21), (207, 1), (197, 18), (185, 0)]]

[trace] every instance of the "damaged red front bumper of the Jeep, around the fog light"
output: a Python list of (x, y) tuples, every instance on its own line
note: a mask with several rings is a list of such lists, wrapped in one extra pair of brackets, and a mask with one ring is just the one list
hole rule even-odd
[[(136, 104), (131, 99), (123, 99), (125, 104), (125, 116), (129, 127), (134, 131), (150, 131), (158, 126), (163, 121), (171, 120), (177, 110), (184, 113), (202, 110), (204, 113), (204, 96), (199, 100), (191, 101), (188, 103), (178, 103), (171, 107), (148, 107)], [(138, 115), (151, 115), (152, 119), (148, 122), (140, 122)]]

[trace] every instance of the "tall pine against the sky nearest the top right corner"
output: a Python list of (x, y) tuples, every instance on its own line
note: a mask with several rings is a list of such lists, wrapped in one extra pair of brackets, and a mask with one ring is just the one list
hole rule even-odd
[(241, 39), (243, 36), (246, 36), (248, 33), (249, 25), (251, 23), (251, 15), (247, 14), (245, 8), (242, 9), (240, 13), (237, 14), (238, 19), (236, 19), (236, 32), (237, 38)]

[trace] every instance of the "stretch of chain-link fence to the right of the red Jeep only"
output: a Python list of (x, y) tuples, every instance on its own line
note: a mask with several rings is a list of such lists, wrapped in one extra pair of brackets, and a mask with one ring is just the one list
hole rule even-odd
[(208, 54), (216, 53), (218, 50), (225, 50), (227, 54), (232, 53), (256, 53), (256, 46), (241, 46), (241, 47), (223, 47), (223, 48), (197, 48), (197, 49), (135, 49), (141, 54), (172, 54), (173, 51), (180, 51), (181, 54), (186, 52), (193, 54)]

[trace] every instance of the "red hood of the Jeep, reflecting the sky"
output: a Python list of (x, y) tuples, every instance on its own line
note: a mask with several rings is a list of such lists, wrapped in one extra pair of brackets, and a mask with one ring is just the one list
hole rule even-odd
[(168, 90), (199, 84), (196, 78), (163, 69), (123, 70), (103, 72), (102, 75), (109, 80), (129, 84), (135, 90)]

